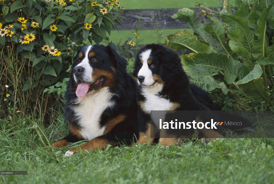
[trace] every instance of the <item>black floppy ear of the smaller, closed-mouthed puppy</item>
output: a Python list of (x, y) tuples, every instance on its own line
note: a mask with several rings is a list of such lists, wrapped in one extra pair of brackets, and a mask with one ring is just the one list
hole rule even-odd
[(183, 70), (179, 55), (169, 48), (159, 53), (159, 63), (160, 77), (163, 81), (168, 80)]

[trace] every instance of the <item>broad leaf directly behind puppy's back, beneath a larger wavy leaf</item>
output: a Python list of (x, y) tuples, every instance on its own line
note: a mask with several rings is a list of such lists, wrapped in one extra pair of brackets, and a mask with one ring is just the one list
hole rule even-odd
[(229, 89), (226, 87), (224, 82), (217, 82), (212, 76), (207, 77), (199, 77), (199, 78), (193, 78), (188, 77), (190, 83), (195, 84), (196, 86), (199, 86), (201, 89), (205, 91), (212, 91), (216, 88), (222, 89), (224, 94), (227, 94)]

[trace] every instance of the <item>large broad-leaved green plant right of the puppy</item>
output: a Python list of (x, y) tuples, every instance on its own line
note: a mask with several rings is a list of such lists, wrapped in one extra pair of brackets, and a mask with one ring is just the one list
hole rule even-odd
[(209, 23), (198, 21), (193, 10), (178, 10), (173, 18), (186, 21), (187, 31), (169, 35), (166, 46), (187, 49), (182, 63), (190, 81), (204, 90), (220, 88), (225, 94), (238, 88), (250, 98), (271, 104), (273, 100), (274, 6), (272, 1), (236, 0), (234, 13), (228, 1), (220, 20), (212, 11)]

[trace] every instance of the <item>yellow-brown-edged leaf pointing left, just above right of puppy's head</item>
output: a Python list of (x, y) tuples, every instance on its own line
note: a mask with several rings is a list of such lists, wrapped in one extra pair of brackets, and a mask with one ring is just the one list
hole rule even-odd
[(177, 51), (181, 48), (186, 48), (192, 52), (216, 52), (207, 44), (204, 44), (198, 40), (198, 38), (187, 31), (178, 32), (166, 37), (165, 45), (173, 50)]

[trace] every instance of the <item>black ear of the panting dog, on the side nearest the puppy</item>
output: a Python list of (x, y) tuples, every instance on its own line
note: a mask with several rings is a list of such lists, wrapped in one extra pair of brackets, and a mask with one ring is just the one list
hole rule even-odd
[(113, 63), (115, 65), (115, 67), (119, 70), (119, 71), (123, 71), (126, 72), (127, 69), (127, 61), (122, 58), (121, 56), (119, 56), (119, 54), (116, 52), (116, 50), (114, 50), (111, 46), (107, 46), (106, 47), (106, 51), (108, 52), (109, 56), (111, 57), (111, 59), (113, 60)]

